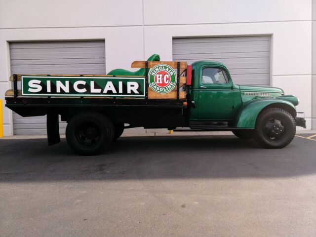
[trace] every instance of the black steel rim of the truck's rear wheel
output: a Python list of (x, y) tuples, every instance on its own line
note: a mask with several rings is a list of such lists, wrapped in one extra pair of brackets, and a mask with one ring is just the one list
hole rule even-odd
[(84, 147), (94, 147), (101, 141), (102, 133), (96, 123), (86, 121), (76, 127), (75, 137), (80, 145)]

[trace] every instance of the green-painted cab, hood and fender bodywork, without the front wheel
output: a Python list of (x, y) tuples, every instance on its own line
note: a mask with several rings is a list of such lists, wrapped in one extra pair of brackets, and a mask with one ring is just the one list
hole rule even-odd
[[(208, 68), (218, 69), (219, 74), (224, 71), (225, 83), (214, 81), (216, 75), (211, 76), (213, 82), (209, 79), (205, 83), (208, 78), (203, 70)], [(232, 127), (255, 128), (259, 113), (268, 107), (285, 109), (296, 118), (297, 97), (284, 95), (284, 91), (277, 87), (236, 85), (223, 63), (193, 63), (192, 79), (188, 98), (195, 106), (191, 107), (190, 121), (228, 121)]]

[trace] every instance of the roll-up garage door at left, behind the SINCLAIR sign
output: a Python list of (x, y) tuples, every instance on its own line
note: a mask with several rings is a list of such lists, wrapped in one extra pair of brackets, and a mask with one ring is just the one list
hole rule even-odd
[[(105, 42), (11, 42), (11, 74), (105, 74)], [(66, 123), (60, 122), (60, 133)], [(46, 134), (46, 117), (13, 113), (14, 135)]]

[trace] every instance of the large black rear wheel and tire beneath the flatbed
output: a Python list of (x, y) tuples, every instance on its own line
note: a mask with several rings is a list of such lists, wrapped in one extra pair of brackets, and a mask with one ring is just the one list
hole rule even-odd
[(107, 149), (114, 138), (112, 121), (95, 112), (83, 112), (70, 119), (66, 127), (69, 146), (80, 155), (97, 155)]

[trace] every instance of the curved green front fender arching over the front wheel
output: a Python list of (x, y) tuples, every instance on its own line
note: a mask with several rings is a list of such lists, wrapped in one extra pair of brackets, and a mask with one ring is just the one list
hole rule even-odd
[(288, 110), (294, 118), (295, 106), (286, 100), (277, 98), (258, 98), (245, 103), (238, 111), (235, 119), (235, 127), (255, 128), (259, 113), (266, 107), (275, 107)]

